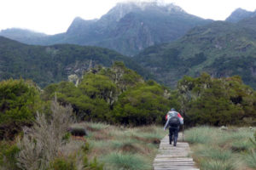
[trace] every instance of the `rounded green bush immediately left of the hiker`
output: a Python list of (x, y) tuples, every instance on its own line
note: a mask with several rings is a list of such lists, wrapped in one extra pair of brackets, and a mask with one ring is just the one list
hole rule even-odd
[(164, 123), (170, 105), (164, 93), (165, 89), (158, 84), (140, 84), (127, 90), (114, 105), (113, 122), (133, 126)]

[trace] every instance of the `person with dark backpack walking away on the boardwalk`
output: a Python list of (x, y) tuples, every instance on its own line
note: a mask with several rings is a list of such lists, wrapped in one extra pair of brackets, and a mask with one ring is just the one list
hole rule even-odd
[(169, 127), (169, 143), (172, 144), (172, 135), (174, 135), (173, 146), (176, 146), (179, 126), (183, 125), (183, 117), (172, 108), (171, 111), (168, 111), (166, 119), (164, 130)]

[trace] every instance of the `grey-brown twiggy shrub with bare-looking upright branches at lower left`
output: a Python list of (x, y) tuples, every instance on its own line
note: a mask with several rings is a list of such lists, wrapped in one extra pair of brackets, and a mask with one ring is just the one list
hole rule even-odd
[(67, 127), (73, 122), (72, 108), (59, 105), (55, 99), (51, 105), (51, 120), (39, 114), (33, 127), (24, 128), (24, 136), (18, 142), (20, 153), (17, 165), (21, 169), (45, 169), (54, 160), (63, 144)]

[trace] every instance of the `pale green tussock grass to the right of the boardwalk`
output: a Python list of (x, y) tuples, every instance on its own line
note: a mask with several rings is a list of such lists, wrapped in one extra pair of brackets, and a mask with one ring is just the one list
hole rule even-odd
[(202, 170), (255, 169), (253, 133), (248, 127), (194, 127), (185, 131), (185, 140)]

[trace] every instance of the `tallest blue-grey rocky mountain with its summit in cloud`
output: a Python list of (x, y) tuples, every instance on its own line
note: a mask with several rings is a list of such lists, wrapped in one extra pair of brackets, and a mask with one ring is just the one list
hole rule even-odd
[(93, 45), (132, 56), (149, 46), (177, 40), (191, 28), (210, 22), (212, 20), (187, 14), (174, 4), (118, 3), (99, 20), (76, 18), (67, 32), (42, 37), (40, 41), (38, 37), (35, 37), (36, 40), (7, 37), (27, 44)]

